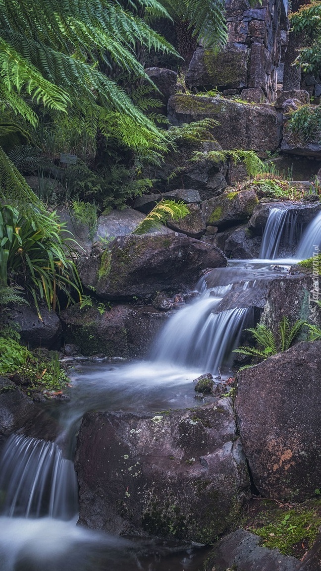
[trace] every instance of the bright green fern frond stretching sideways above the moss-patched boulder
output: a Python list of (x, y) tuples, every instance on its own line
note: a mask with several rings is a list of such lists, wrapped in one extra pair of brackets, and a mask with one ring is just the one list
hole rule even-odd
[(243, 162), (246, 166), (248, 176), (255, 176), (264, 168), (264, 163), (254, 151), (242, 151), (239, 149), (209, 152), (195, 151), (193, 153), (192, 160), (196, 162), (201, 160), (212, 160), (214, 163), (231, 160), (234, 164)]

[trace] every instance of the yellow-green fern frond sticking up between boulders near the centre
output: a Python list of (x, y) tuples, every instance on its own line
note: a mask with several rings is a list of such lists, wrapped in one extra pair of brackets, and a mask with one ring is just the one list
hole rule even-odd
[(157, 230), (162, 227), (162, 224), (166, 224), (167, 220), (179, 220), (189, 213), (188, 207), (182, 201), (161, 200), (138, 224), (133, 234), (145, 234), (150, 230)]

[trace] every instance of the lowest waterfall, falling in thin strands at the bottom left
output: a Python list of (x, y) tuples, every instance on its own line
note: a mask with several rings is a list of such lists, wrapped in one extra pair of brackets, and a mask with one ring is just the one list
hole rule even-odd
[(0, 463), (2, 514), (70, 520), (77, 513), (74, 465), (53, 442), (12, 435)]

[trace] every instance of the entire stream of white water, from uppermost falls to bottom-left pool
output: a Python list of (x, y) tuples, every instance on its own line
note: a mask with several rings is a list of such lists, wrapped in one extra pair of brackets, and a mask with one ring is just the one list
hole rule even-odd
[[(230, 267), (204, 276), (195, 287), (194, 298), (172, 311), (149, 360), (74, 361), (71, 401), (61, 406), (57, 443), (12, 435), (3, 449), (1, 571), (202, 568), (204, 551), (199, 546), (118, 538), (75, 525), (78, 489), (72, 462), (74, 435), (83, 414), (93, 409), (157, 412), (195, 407), (192, 380), (206, 372), (230, 375), (232, 349), (240, 343), (243, 329), (253, 324), (251, 300), (271, 279), (271, 260), (294, 261), (276, 260), (281, 238), (293, 250), (299, 237), (295, 209), (272, 208), (261, 259), (235, 260)], [(311, 244), (320, 243), (321, 214), (304, 232), (295, 259), (306, 257), (306, 252), (311, 255)]]

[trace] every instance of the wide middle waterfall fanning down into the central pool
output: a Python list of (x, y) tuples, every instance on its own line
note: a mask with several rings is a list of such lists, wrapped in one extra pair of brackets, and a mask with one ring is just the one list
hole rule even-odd
[(154, 348), (155, 361), (190, 365), (217, 375), (219, 368), (230, 362), (232, 349), (252, 313), (250, 308), (218, 312), (232, 286), (206, 289), (202, 284), (199, 299), (180, 309), (164, 327)]

